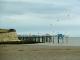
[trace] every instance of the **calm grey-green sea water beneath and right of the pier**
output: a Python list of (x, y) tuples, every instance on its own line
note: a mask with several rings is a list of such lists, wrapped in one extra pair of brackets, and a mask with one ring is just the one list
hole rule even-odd
[(53, 46), (80, 46), (80, 37), (69, 37), (68, 40), (66, 40), (66, 38), (64, 38), (64, 40), (62, 41), (62, 39), (59, 40), (58, 43), (58, 39), (55, 37), (54, 38), (54, 43), (52, 42), (46, 42), (44, 43), (45, 45), (53, 45)]

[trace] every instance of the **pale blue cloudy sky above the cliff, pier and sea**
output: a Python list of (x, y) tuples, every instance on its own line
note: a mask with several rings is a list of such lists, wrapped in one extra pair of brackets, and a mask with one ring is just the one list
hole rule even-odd
[(0, 0), (0, 28), (80, 37), (80, 0)]

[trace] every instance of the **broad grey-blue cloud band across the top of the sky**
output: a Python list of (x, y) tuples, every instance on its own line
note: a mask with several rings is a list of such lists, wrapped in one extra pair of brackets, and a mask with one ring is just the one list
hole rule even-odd
[[(39, 2), (39, 1), (38, 1)], [(69, 6), (68, 6), (69, 8)], [(24, 14), (25, 12), (57, 14), (69, 11), (66, 4), (60, 3), (37, 3), (37, 2), (1, 2), (1, 13), (5, 14)]]

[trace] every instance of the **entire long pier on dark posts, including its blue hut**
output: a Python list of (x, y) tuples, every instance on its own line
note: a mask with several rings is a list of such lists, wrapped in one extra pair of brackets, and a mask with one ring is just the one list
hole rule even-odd
[[(56, 38), (56, 40), (55, 40)], [(58, 34), (58, 35), (43, 35), (43, 36), (39, 36), (39, 35), (32, 35), (32, 36), (18, 36), (19, 40), (22, 41), (30, 41), (30, 42), (35, 42), (35, 43), (55, 43), (55, 41), (57, 41), (57, 43), (61, 43), (60, 40), (62, 40), (62, 43), (64, 43), (64, 39), (66, 38), (66, 43), (68, 43), (68, 36), (65, 37), (62, 34)], [(54, 41), (55, 40), (55, 41)]]

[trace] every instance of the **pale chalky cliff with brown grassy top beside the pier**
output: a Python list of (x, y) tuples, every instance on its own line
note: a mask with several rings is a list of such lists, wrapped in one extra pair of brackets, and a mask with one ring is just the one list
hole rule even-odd
[(15, 29), (0, 29), (0, 41), (19, 41)]

